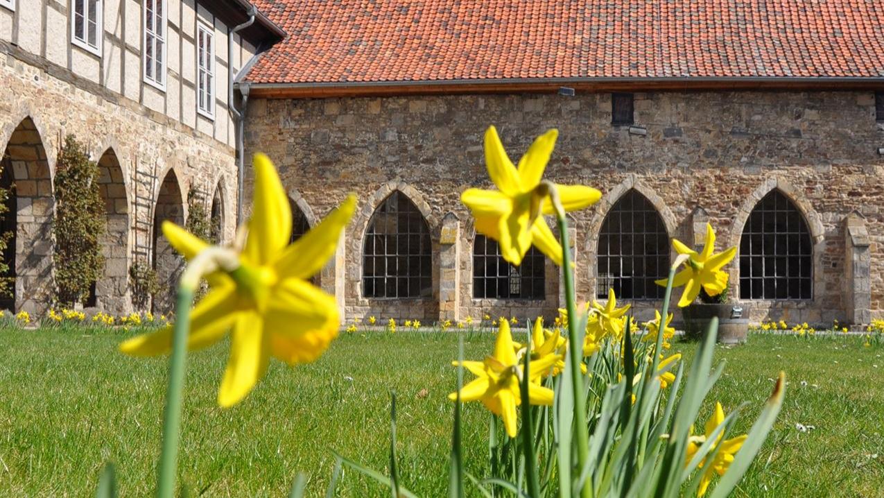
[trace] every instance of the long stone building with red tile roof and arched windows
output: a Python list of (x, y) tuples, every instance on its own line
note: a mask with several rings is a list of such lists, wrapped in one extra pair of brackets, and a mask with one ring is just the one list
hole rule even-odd
[(347, 319), (560, 307), (556, 268), (503, 263), (460, 203), (490, 186), (489, 125), (514, 160), (559, 128), (548, 178), (604, 193), (573, 213), (580, 299), (647, 318), (669, 239), (708, 221), (753, 320), (884, 317), (884, 4), (257, 4), (289, 36), (239, 81), (246, 157), (275, 160), (301, 226), (359, 195), (318, 277)]

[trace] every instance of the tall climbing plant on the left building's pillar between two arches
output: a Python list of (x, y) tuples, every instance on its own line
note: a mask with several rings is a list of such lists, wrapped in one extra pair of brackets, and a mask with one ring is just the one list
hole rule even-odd
[(55, 180), (55, 264), (58, 301), (84, 303), (104, 268), (102, 238), (107, 230), (98, 165), (72, 135), (59, 151)]

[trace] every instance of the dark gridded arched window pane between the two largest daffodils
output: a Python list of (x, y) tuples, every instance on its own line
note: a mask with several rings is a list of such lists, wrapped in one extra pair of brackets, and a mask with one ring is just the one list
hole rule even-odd
[(371, 216), (362, 249), (366, 297), (432, 295), (430, 227), (408, 197), (396, 191)]

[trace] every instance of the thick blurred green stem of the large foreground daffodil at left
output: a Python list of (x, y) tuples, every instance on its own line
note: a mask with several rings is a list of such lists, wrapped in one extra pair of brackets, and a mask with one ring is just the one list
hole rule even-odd
[[(182, 278), (183, 280), (183, 278)], [(198, 281), (198, 280), (197, 280)], [(169, 387), (163, 412), (163, 449), (156, 483), (156, 496), (171, 498), (175, 494), (175, 478), (178, 474), (178, 442), (181, 429), (181, 393), (184, 390), (184, 373), (187, 369), (187, 324), (194, 289), (182, 283), (178, 288), (175, 326), (171, 340), (169, 360)]]

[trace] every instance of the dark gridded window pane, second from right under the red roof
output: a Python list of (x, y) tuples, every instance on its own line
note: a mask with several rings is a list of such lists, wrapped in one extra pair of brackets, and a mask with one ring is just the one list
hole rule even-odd
[(669, 270), (669, 236), (653, 204), (629, 190), (608, 211), (598, 233), (596, 295), (608, 289), (624, 299), (662, 299), (654, 280)]

